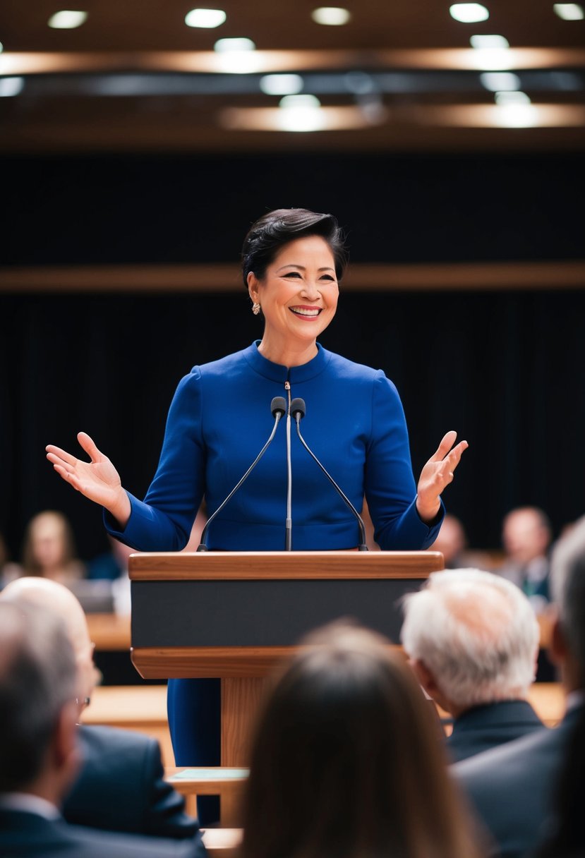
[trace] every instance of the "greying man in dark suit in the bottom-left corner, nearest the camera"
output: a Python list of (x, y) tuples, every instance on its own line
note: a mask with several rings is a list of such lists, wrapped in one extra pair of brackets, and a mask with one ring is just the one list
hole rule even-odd
[(0, 854), (10, 858), (196, 858), (202, 843), (94, 831), (58, 807), (78, 764), (78, 678), (62, 621), (0, 601)]

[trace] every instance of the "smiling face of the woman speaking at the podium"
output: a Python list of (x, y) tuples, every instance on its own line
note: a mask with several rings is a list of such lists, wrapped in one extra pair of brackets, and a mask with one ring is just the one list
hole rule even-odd
[(303, 347), (335, 316), (339, 286), (335, 260), (321, 236), (285, 245), (259, 281), (248, 275), (250, 298), (262, 307), (264, 339), (280, 347)]

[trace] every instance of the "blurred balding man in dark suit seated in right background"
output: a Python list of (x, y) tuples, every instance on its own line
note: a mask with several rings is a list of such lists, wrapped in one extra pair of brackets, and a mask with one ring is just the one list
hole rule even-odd
[(542, 613), (549, 601), (549, 548), (552, 527), (546, 512), (536, 506), (521, 506), (504, 517), (502, 545), (504, 563), (498, 575), (520, 587)]

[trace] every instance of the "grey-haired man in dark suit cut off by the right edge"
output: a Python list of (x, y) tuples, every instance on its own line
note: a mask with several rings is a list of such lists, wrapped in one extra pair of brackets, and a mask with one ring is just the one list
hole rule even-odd
[[(461, 786), (492, 831), (502, 858), (528, 855), (554, 831), (553, 795), (570, 737), (585, 708), (585, 517), (554, 547), (552, 600), (557, 617), (552, 656), (567, 710), (557, 728), (541, 730), (455, 764)], [(579, 775), (582, 796), (582, 770)], [(580, 804), (582, 808), (582, 802)], [(582, 810), (581, 810), (582, 813)]]

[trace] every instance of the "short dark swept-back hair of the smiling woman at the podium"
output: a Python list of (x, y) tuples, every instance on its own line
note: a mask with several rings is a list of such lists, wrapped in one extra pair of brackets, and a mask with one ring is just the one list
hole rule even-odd
[(333, 254), (335, 275), (341, 281), (347, 266), (347, 249), (343, 233), (333, 215), (321, 215), (307, 208), (275, 208), (252, 224), (242, 247), (242, 275), (248, 288), (248, 275), (253, 271), (258, 280), (278, 252), (291, 241), (320, 235)]

